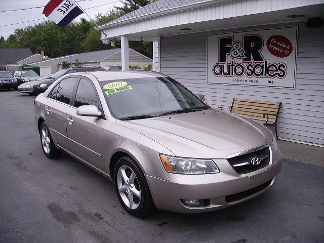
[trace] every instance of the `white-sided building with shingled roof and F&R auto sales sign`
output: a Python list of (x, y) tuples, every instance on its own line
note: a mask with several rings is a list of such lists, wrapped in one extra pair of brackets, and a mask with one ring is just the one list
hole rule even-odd
[(208, 104), (282, 102), (280, 139), (324, 145), (324, 0), (158, 0), (101, 26), (103, 43), (154, 42), (154, 70)]

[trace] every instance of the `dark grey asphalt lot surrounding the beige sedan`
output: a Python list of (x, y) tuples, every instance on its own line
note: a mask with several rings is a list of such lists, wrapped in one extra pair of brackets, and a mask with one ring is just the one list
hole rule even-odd
[(137, 219), (120, 206), (108, 179), (68, 155), (45, 157), (34, 98), (0, 91), (0, 242), (324, 240), (324, 167), (284, 159), (276, 184), (245, 203)]

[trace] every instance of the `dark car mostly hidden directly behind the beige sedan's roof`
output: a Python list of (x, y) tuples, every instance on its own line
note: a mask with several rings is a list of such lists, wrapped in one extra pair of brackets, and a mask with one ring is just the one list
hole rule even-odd
[(101, 67), (72, 67), (72, 68), (61, 69), (56, 73), (52, 74), (50, 77), (36, 82), (33, 85), (32, 92), (34, 94), (40, 94), (45, 92), (49, 88), (49, 86), (55, 82), (56, 79), (69, 73), (92, 72), (92, 71), (103, 71), (103, 70), (104, 69)]

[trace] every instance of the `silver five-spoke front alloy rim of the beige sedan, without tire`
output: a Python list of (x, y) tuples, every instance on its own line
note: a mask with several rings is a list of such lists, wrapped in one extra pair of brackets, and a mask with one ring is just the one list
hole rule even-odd
[(141, 188), (130, 167), (123, 165), (118, 169), (117, 186), (125, 205), (132, 210), (137, 209), (141, 202)]

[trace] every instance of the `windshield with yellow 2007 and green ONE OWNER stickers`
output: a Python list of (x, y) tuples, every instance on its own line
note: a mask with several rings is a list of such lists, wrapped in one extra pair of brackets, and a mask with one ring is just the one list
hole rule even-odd
[(209, 109), (209, 106), (170, 77), (100, 82), (113, 117), (140, 119)]

